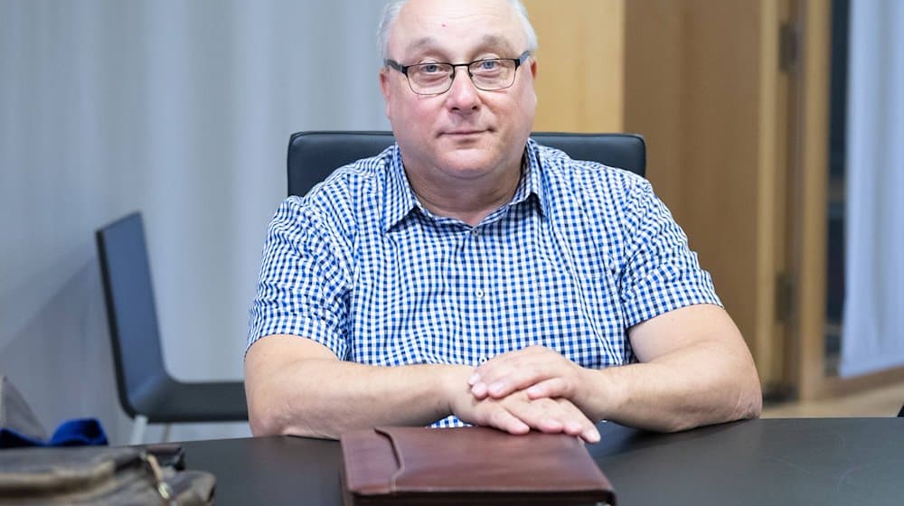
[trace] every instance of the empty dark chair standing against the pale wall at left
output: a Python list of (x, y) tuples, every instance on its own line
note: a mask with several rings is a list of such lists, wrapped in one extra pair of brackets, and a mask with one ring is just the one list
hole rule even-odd
[(166, 424), (165, 441), (173, 423), (248, 420), (241, 381), (185, 383), (166, 371), (141, 214), (98, 230), (97, 241), (119, 402), (135, 420), (130, 444), (148, 423)]

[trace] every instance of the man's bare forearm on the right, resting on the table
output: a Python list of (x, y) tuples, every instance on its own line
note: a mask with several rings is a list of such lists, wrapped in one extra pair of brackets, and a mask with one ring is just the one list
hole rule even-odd
[(591, 388), (579, 405), (592, 419), (666, 432), (758, 417), (753, 362), (725, 347), (698, 342), (654, 361), (588, 370)]

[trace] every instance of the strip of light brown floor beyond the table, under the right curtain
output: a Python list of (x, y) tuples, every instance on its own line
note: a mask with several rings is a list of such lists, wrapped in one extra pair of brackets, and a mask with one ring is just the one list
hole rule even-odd
[(765, 406), (764, 418), (894, 417), (904, 405), (904, 383), (840, 398)]

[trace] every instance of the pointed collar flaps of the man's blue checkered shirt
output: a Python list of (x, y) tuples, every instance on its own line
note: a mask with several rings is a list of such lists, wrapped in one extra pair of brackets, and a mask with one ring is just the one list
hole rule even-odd
[[(515, 190), (512, 201), (507, 206), (527, 201), (531, 195), (536, 195), (540, 203), (540, 211), (547, 208), (546, 192), (542, 190), (541, 183), (541, 155), (537, 143), (533, 139), (527, 140), (524, 149), (525, 155), (522, 165), (522, 177)], [(382, 230), (388, 232), (392, 227), (404, 219), (408, 214), (419, 207), (418, 199), (411, 189), (405, 167), (401, 162), (399, 145), (393, 145), (389, 160), (389, 177), (387, 178), (386, 206), (382, 213)]]

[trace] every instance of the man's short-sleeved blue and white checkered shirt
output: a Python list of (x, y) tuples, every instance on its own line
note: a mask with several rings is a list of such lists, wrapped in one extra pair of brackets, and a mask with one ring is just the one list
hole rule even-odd
[(720, 305), (644, 178), (533, 140), (526, 155), (512, 201), (476, 227), (421, 206), (398, 145), (283, 201), (248, 346), (294, 334), (344, 361), (476, 366), (539, 344), (603, 368), (636, 361), (632, 325)]

